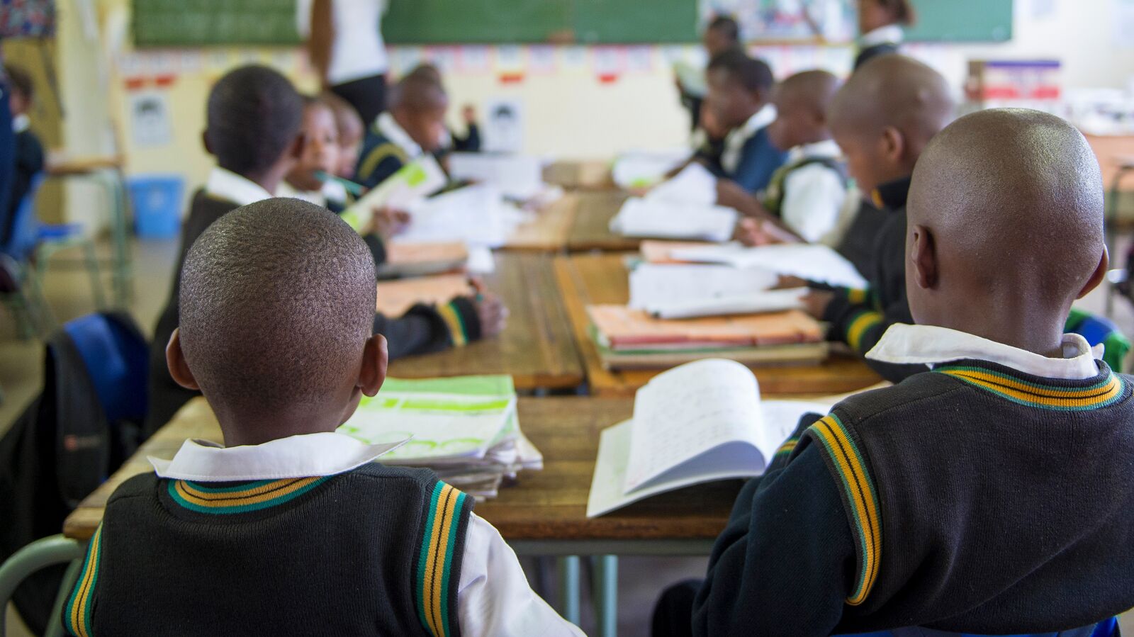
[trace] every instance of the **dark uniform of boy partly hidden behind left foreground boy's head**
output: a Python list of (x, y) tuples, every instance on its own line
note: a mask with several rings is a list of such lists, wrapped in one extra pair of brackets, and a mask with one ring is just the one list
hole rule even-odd
[[(272, 194), (260, 185), (223, 168), (214, 168), (204, 188), (193, 196), (189, 214), (181, 226), (181, 248), (169, 300), (158, 317), (150, 345), (150, 405), (143, 427), (145, 436), (158, 431), (183, 405), (198, 396), (198, 392), (177, 384), (166, 365), (166, 345), (178, 325), (178, 294), (186, 253), (193, 241), (225, 214), (271, 197)], [(397, 358), (463, 346), (481, 337), (481, 326), (473, 300), (460, 297), (435, 307), (415, 305), (397, 318), (375, 314), (374, 333), (386, 336), (390, 358)]]

